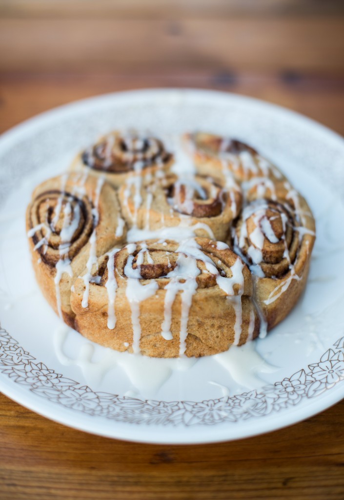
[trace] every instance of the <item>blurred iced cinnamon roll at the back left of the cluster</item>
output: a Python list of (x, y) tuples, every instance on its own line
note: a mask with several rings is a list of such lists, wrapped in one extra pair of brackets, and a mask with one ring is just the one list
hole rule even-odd
[(133, 175), (151, 176), (167, 171), (172, 155), (161, 140), (137, 134), (111, 132), (93, 146), (82, 151), (71, 169), (87, 168), (95, 175), (105, 175), (115, 187)]

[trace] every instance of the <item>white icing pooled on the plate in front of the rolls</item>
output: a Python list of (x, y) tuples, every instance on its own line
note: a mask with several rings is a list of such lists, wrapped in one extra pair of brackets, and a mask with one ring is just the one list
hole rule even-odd
[[(66, 325), (60, 325), (53, 331), (54, 349), (60, 363), (79, 367), (86, 383), (92, 387), (100, 386), (105, 374), (119, 367), (127, 375), (132, 391), (127, 395), (132, 397), (138, 394), (153, 396), (171, 376), (177, 375), (180, 371), (187, 371), (187, 382), (194, 377), (193, 366), (195, 370), (200, 367), (203, 371), (204, 369), (209, 370), (211, 373), (209, 376), (213, 377), (213, 370), (219, 365), (235, 383), (247, 389), (263, 386), (266, 381), (261, 375), (278, 370), (276, 366), (269, 364), (256, 351), (254, 342), (248, 342), (240, 347), (232, 346), (225, 352), (205, 358), (186, 356), (157, 358), (133, 355), (129, 352), (117, 352), (93, 344), (79, 336), (77, 336), (78, 344), (75, 349), (75, 345), (73, 344), (71, 347), (70, 342), (73, 340), (73, 336), (73, 330)], [(72, 351), (72, 355), (69, 354), (70, 351)], [(101, 352), (101, 355), (96, 356), (97, 352)], [(218, 379), (218, 381), (208, 380), (208, 383), (220, 387), (222, 394), (227, 396), (233, 389), (233, 383), (227, 377), (225, 380), (226, 386), (223, 385), (223, 378)], [(222, 383), (219, 383), (220, 381)]]

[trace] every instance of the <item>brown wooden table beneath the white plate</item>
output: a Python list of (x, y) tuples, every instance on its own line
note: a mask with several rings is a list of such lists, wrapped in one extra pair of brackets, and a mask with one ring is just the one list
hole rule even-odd
[[(266, 99), (344, 134), (343, 12), (340, 1), (2, 0), (0, 131), (97, 93), (193, 86)], [(145, 445), (0, 395), (0, 500), (342, 500), (343, 424), (344, 401), (241, 441)]]

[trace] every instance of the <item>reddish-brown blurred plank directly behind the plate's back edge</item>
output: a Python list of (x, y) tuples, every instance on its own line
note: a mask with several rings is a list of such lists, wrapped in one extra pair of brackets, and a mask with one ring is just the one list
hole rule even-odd
[(344, 76), (174, 70), (128, 74), (92, 72), (0, 73), (0, 132), (23, 119), (75, 99), (151, 87), (198, 87), (250, 95), (320, 121), (344, 135)]

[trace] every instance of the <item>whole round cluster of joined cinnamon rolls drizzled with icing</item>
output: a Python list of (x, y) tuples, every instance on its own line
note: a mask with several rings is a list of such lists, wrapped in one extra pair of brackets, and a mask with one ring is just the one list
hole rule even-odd
[(169, 151), (111, 132), (38, 185), (27, 208), (45, 298), (106, 347), (222, 352), (264, 336), (304, 288), (315, 238), (304, 198), (243, 142), (179, 139)]

